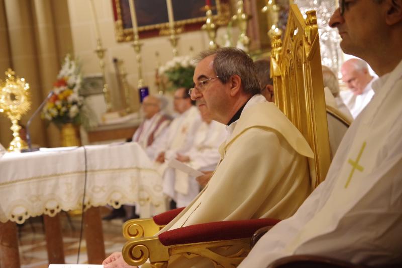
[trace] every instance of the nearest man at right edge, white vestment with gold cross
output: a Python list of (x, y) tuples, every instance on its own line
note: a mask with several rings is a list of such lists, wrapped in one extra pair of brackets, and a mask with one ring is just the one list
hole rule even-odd
[(240, 268), (314, 254), (354, 264), (402, 263), (402, 0), (340, 1), (331, 27), (366, 60), (375, 95), (348, 129), (325, 181), (270, 229)]

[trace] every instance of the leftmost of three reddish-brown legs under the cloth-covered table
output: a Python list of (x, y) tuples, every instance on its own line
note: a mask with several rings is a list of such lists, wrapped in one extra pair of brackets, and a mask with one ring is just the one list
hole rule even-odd
[(20, 267), (17, 225), (15, 222), (0, 222), (0, 267)]

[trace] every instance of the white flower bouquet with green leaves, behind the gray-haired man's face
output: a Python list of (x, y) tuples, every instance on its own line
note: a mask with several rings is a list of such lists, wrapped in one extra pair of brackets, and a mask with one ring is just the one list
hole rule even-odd
[(160, 66), (158, 73), (168, 80), (167, 90), (173, 91), (178, 87), (192, 87), (194, 69), (195, 64), (190, 56), (177, 56)]

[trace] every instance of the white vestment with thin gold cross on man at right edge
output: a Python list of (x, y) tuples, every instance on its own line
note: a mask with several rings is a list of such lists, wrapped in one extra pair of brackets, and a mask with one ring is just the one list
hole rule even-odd
[(365, 265), (402, 261), (402, 61), (347, 131), (326, 180), (265, 234), (239, 267), (293, 254)]

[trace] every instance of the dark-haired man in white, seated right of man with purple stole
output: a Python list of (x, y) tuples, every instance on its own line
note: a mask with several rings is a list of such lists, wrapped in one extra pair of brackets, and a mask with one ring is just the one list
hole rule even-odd
[[(174, 93), (173, 106), (178, 116), (171, 122), (168, 131), (162, 139), (155, 142), (157, 148), (156, 163), (163, 176), (163, 193), (172, 200), (175, 199), (175, 176), (171, 169), (167, 168), (165, 159), (176, 158), (180, 153), (186, 153), (193, 145), (195, 134), (202, 120), (195, 102), (190, 99), (188, 90), (178, 88)], [(175, 203), (171, 208), (175, 208)]]

